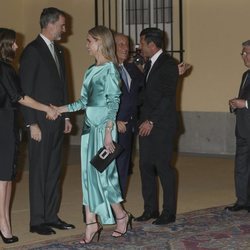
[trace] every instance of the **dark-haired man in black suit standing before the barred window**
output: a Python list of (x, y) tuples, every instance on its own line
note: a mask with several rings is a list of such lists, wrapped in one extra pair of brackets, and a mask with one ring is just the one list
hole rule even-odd
[[(145, 65), (145, 89), (140, 110), (139, 151), (144, 212), (136, 221), (157, 218), (153, 224), (175, 221), (176, 175), (171, 167), (177, 127), (176, 87), (178, 66), (163, 48), (164, 33), (147, 28), (140, 33), (140, 48), (149, 61)], [(151, 65), (150, 65), (151, 64)], [(157, 181), (163, 189), (163, 211), (159, 216)]]

